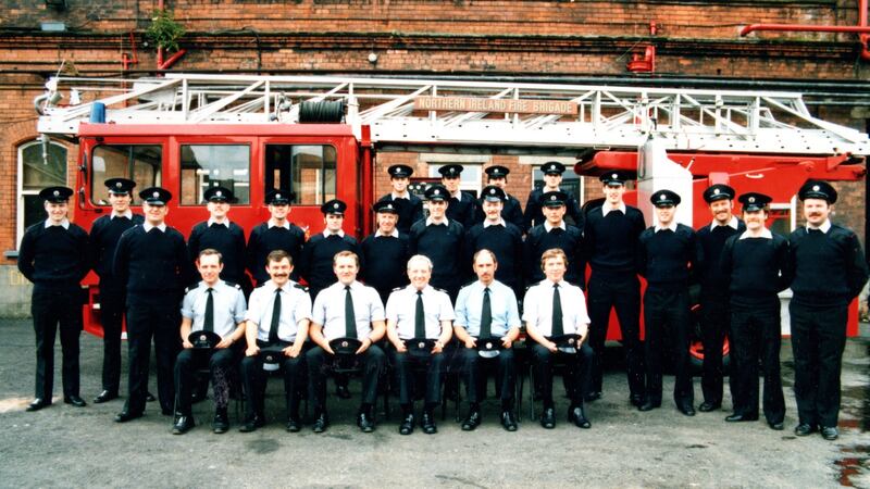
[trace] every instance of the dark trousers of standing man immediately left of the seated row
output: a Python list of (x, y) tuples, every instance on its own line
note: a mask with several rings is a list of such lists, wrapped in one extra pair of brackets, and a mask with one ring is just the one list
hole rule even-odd
[(145, 411), (148, 394), (148, 374), (151, 362), (151, 339), (157, 358), (157, 390), (160, 408), (172, 411), (175, 393), (173, 364), (182, 348), (178, 328), (182, 324), (178, 304), (167, 302), (134, 302), (127, 304), (127, 348), (129, 350), (129, 378), (126, 411), (138, 414)]

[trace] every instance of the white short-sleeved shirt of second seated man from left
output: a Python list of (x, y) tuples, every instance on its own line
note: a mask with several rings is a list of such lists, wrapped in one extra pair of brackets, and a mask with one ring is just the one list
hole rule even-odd
[[(250, 306), (245, 318), (254, 323), (257, 339), (269, 341), (269, 331), (272, 327), (272, 310), (275, 306), (275, 283), (268, 280), (262, 287), (251, 292)], [(308, 291), (293, 280), (287, 280), (281, 288), (281, 316), (278, 318), (278, 339), (282, 341), (296, 341), (299, 333), (299, 322), (311, 319), (311, 298)]]

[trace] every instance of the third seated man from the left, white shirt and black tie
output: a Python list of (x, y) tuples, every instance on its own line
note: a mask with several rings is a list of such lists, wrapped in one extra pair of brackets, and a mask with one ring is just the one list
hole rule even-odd
[(385, 361), (384, 351), (374, 343), (383, 338), (386, 325), (381, 297), (373, 287), (357, 281), (359, 271), (357, 253), (336, 253), (333, 272), (338, 281), (321, 290), (314, 299), (310, 336), (315, 346), (306, 353), (309, 399), (314, 401), (314, 432), (323, 432), (330, 425), (326, 414), (327, 360), (335, 355), (330, 341), (338, 338), (356, 339), (362, 343), (356, 351), (363, 373), (357, 425), (363, 432), (374, 431), (373, 406)]

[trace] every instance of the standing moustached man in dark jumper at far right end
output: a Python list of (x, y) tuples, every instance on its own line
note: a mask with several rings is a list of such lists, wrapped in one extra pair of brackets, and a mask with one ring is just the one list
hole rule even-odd
[(821, 428), (825, 440), (834, 440), (848, 305), (867, 281), (867, 262), (855, 233), (831, 223), (836, 190), (830, 184), (807, 181), (797, 196), (807, 225), (788, 237), (795, 275), (788, 305), (799, 417), (795, 435)]

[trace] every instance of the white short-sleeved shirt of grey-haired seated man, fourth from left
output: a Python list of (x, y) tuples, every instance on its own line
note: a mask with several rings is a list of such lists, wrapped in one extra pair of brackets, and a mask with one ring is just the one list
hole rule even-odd
[[(396, 322), (396, 331), (401, 339), (415, 335), (417, 288), (412, 285), (394, 290), (387, 300), (387, 319)], [(423, 288), (423, 316), (426, 338), (435, 339), (442, 334), (442, 321), (453, 321), (453, 305), (447, 292), (430, 285)]]

